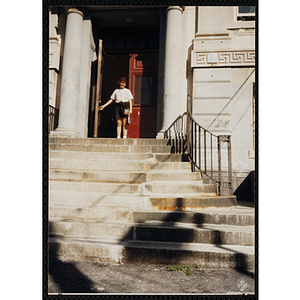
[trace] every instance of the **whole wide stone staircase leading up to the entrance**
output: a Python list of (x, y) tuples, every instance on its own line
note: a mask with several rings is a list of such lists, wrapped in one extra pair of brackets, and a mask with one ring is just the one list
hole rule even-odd
[(50, 138), (50, 255), (254, 270), (254, 212), (168, 140)]

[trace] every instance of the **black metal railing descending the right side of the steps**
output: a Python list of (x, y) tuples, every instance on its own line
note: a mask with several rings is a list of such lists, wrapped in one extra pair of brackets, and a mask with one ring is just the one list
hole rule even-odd
[[(225, 194), (224, 189), (228, 189), (226, 194), (232, 195), (230, 135), (216, 135), (208, 131), (195, 121), (188, 109), (164, 132), (164, 138), (173, 140), (175, 145), (181, 145), (179, 149), (181, 153), (188, 155), (192, 171), (198, 169), (213, 180), (217, 184), (218, 195)], [(224, 143), (227, 147), (223, 146)], [(224, 155), (226, 149), (227, 155)], [(176, 152), (178, 153), (178, 149)]]

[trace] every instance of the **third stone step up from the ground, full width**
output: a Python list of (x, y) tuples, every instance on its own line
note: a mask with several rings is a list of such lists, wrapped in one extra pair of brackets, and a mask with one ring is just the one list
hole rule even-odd
[(255, 216), (252, 209), (245, 208), (206, 208), (202, 211), (150, 211), (150, 210), (128, 210), (96, 206), (95, 203), (67, 205), (66, 203), (54, 203), (49, 208), (50, 217), (62, 219), (82, 220), (116, 220), (127, 223), (148, 223), (148, 222), (181, 222), (233, 226), (254, 226)]

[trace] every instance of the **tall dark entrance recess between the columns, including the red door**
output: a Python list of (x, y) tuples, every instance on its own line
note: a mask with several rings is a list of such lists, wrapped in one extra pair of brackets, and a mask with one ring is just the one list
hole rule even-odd
[[(156, 135), (156, 79), (158, 77), (159, 14), (161, 11), (164, 11), (164, 9), (121, 9), (91, 12), (95, 44), (98, 45), (99, 39), (103, 40), (102, 104), (110, 99), (112, 92), (118, 87), (117, 82), (121, 76), (127, 77), (127, 87), (134, 97), (135, 93), (137, 94), (137, 102), (134, 103), (133, 108), (132, 124), (128, 126), (128, 136), (131, 138), (155, 137)], [(96, 52), (98, 52), (98, 49), (96, 49)], [(133, 56), (155, 57), (156, 73), (151, 71), (143, 74), (143, 72), (138, 73), (137, 70), (133, 70), (133, 64), (131, 63)], [(97, 61), (92, 66), (89, 137), (93, 136), (96, 78)], [(145, 84), (147, 85), (146, 90)], [(138, 86), (142, 90), (139, 91)], [(149, 99), (150, 93), (151, 99)], [(144, 108), (143, 104), (145, 104)], [(150, 109), (152, 115), (150, 119), (148, 116), (146, 121), (144, 118), (148, 115), (147, 108), (150, 107), (149, 105), (152, 107)], [(114, 104), (111, 104), (101, 112), (98, 137), (116, 137), (116, 120), (114, 119), (113, 109)], [(141, 114), (141, 112), (146, 112), (146, 114)], [(135, 115), (138, 115), (139, 118)], [(150, 131), (149, 122), (154, 124)]]

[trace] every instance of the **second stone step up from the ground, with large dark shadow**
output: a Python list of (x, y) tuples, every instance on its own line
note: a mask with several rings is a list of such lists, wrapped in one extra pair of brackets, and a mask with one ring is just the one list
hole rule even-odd
[(119, 240), (254, 246), (253, 226), (52, 218), (52, 230), (65, 237), (115, 237)]

